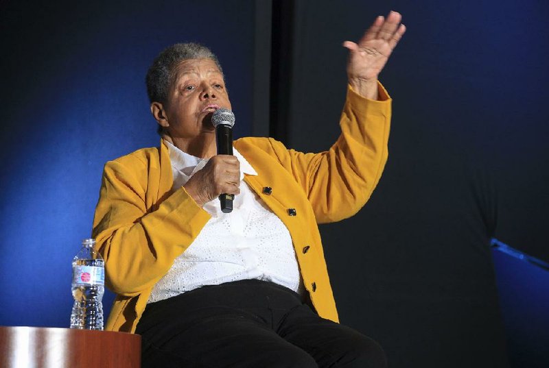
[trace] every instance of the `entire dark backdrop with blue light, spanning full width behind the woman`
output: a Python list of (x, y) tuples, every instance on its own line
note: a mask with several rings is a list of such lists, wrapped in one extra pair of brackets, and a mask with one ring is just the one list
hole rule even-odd
[(237, 136), (270, 118), (273, 136), (318, 151), (338, 134), (342, 41), (395, 9), (408, 32), (382, 74), (386, 171), (357, 216), (321, 228), (340, 317), (390, 367), (508, 366), (489, 238), (549, 260), (545, 1), (0, 5), (0, 324), (67, 326), (102, 164), (157, 144), (143, 75), (162, 47), (219, 54)]

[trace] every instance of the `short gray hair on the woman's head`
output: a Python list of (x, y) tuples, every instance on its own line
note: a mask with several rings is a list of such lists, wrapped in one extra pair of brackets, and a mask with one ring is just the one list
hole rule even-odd
[(159, 56), (156, 56), (147, 72), (147, 94), (151, 103), (166, 103), (168, 89), (175, 76), (176, 66), (183, 60), (190, 59), (213, 60), (221, 74), (223, 74), (218, 57), (204, 45), (194, 42), (176, 43), (164, 49)]

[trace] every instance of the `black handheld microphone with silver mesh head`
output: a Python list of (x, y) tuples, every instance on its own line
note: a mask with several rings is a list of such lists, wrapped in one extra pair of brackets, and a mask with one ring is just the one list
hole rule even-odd
[[(233, 125), (235, 125), (235, 114), (229, 109), (218, 108), (211, 116), (211, 123), (215, 127), (215, 143), (218, 145), (218, 155), (233, 154)], [(219, 196), (221, 211), (229, 213), (233, 210), (232, 194), (223, 193)]]

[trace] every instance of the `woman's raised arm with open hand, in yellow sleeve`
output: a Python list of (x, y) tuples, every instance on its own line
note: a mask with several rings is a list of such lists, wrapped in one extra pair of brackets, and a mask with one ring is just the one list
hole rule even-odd
[(358, 43), (345, 41), (347, 100), (341, 135), (329, 151), (302, 154), (270, 140), (285, 168), (301, 184), (318, 223), (352, 216), (369, 199), (387, 160), (391, 100), (377, 77), (406, 27), (401, 15), (378, 16)]

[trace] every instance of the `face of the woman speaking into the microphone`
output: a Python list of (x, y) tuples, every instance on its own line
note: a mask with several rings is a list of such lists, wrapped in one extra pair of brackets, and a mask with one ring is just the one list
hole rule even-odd
[(176, 66), (164, 110), (172, 138), (212, 134), (211, 115), (218, 108), (231, 109), (223, 75), (210, 59), (184, 60)]

